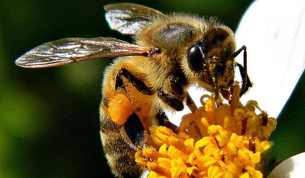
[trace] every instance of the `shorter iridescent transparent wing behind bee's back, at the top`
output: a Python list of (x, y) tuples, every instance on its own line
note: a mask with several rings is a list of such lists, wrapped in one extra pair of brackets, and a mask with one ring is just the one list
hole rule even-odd
[(122, 34), (136, 34), (154, 17), (165, 16), (163, 13), (137, 4), (110, 4), (105, 7), (105, 17), (111, 29)]

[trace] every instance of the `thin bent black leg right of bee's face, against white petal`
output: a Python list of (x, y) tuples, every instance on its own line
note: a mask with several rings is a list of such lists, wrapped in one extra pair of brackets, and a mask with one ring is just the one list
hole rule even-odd
[(239, 55), (239, 53), (242, 52), (242, 50), (244, 51), (243, 57), (244, 57), (244, 66), (242, 67), (241, 64), (237, 63), (237, 66), (239, 67), (239, 71), (240, 71), (240, 75), (242, 76), (242, 88), (240, 90), (240, 95), (242, 96), (243, 94), (245, 94), (248, 89), (250, 87), (252, 87), (252, 83), (249, 79), (248, 73), (247, 73), (247, 50), (246, 50), (246, 46), (243, 45), (241, 48), (239, 48), (237, 51), (235, 51), (234, 54), (232, 54), (231, 57), (235, 58), (237, 55)]

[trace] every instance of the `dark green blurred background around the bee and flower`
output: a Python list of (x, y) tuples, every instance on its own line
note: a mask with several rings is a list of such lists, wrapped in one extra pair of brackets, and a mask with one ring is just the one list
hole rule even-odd
[[(17, 67), (14, 60), (38, 45), (67, 37), (131, 42), (106, 24), (103, 6), (116, 2), (122, 1), (0, 1), (0, 177), (112, 176), (99, 137), (101, 82), (112, 59), (43, 69)], [(218, 16), (233, 31), (251, 3), (129, 2), (163, 13)], [(305, 150), (304, 85), (302, 78), (271, 136), (271, 154), (282, 159)]]

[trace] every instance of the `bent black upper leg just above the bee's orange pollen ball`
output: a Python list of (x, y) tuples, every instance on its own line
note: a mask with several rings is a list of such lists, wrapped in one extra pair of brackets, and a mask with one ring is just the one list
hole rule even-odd
[(125, 68), (121, 68), (119, 70), (119, 72), (117, 73), (116, 85), (115, 85), (116, 89), (119, 87), (125, 89), (122, 76), (124, 78), (126, 78), (142, 94), (145, 94), (145, 95), (154, 94), (152, 91), (152, 88), (148, 87), (144, 82), (142, 82), (140, 79), (136, 78), (133, 74), (131, 74), (131, 72), (129, 72)]

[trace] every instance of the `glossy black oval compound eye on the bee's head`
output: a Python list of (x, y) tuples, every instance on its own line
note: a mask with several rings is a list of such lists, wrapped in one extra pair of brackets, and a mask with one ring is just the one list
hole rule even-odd
[(187, 53), (188, 67), (194, 72), (203, 71), (203, 53), (201, 46), (191, 45)]

